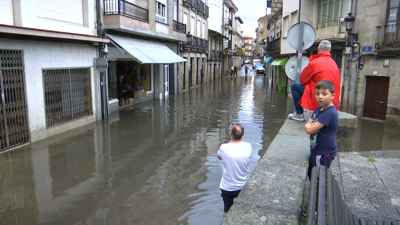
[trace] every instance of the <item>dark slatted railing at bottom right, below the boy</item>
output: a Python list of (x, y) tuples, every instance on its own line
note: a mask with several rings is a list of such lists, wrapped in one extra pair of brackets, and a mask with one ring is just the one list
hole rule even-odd
[[(316, 213), (318, 212), (318, 213)], [(317, 214), (317, 216), (315, 216)], [(317, 221), (314, 221), (314, 220)], [(365, 219), (355, 215), (342, 197), (340, 185), (324, 166), (311, 172), (306, 224), (397, 224), (396, 221)]]

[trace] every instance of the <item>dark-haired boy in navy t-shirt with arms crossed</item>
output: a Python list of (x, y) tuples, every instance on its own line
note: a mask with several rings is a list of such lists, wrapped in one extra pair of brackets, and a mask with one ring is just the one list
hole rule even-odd
[(308, 178), (314, 166), (323, 165), (329, 168), (338, 151), (336, 134), (339, 126), (339, 116), (335, 105), (335, 86), (328, 80), (322, 80), (315, 86), (315, 97), (320, 105), (305, 125), (310, 135), (310, 158), (308, 161)]

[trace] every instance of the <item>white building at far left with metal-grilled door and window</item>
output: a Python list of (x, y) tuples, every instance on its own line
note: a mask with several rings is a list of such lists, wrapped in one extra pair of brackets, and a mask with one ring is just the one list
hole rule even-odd
[(1, 147), (8, 150), (104, 118), (96, 2), (0, 2)]

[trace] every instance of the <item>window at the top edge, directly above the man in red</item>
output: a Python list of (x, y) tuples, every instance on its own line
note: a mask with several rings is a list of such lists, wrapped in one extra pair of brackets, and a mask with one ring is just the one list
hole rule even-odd
[(318, 0), (317, 27), (325, 28), (337, 25), (341, 0)]

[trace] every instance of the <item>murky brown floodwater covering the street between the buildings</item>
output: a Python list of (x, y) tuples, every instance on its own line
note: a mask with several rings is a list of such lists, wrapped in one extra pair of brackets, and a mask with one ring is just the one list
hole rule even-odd
[(224, 77), (0, 154), (0, 224), (220, 224), (219, 146), (241, 123), (253, 170), (293, 106)]

